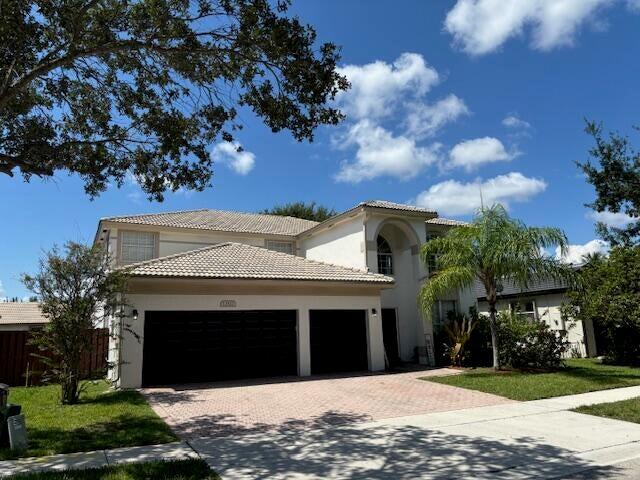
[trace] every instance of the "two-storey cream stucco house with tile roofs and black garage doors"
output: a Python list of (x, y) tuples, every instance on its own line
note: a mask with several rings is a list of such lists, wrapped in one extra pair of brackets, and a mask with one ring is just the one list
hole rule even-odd
[[(419, 250), (457, 223), (385, 201), (322, 223), (219, 210), (104, 218), (95, 241), (132, 275), (133, 332), (112, 345), (112, 375), (140, 387), (432, 362)], [(474, 303), (453, 292), (436, 315)]]

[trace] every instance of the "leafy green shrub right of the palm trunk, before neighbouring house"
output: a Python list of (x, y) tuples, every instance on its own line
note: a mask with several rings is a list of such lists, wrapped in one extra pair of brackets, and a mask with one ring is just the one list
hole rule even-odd
[(565, 331), (552, 330), (545, 322), (511, 312), (498, 315), (498, 339), (500, 363), (512, 368), (558, 368), (569, 348)]

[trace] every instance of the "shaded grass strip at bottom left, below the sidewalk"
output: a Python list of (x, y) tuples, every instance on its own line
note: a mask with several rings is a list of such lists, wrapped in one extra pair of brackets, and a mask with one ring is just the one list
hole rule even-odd
[(218, 480), (204, 460), (150, 462), (67, 472), (26, 473), (10, 480)]

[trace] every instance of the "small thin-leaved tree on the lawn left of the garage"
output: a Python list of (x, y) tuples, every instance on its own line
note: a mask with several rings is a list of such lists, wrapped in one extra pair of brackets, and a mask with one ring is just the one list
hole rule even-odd
[(31, 339), (43, 353), (44, 378), (60, 383), (63, 404), (77, 403), (81, 360), (92, 345), (87, 332), (103, 318), (119, 314), (126, 275), (110, 270), (101, 248), (68, 242), (63, 252), (54, 248), (45, 254), (38, 273), (22, 279), (49, 319)]

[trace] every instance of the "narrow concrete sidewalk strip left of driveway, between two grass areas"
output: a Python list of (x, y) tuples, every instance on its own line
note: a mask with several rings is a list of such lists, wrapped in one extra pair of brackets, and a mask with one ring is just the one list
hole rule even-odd
[(187, 458), (198, 458), (198, 454), (186, 443), (174, 442), (163, 445), (126, 447), (1, 461), (0, 477), (27, 472), (81, 470), (123, 463), (184, 460)]

